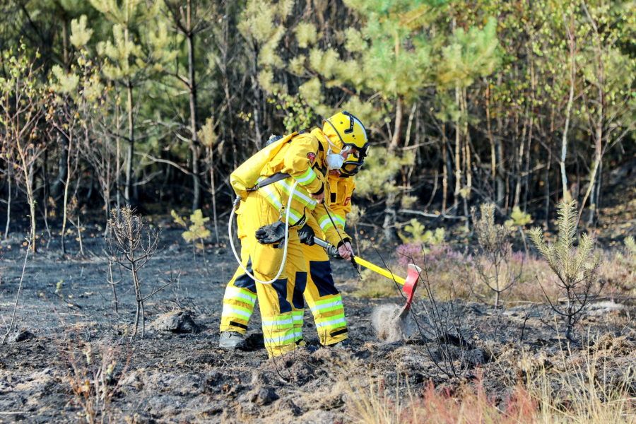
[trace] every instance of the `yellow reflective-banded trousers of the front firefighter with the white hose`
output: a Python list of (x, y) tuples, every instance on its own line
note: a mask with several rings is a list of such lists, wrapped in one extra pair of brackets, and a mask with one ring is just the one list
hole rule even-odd
[[(237, 211), (240, 226), (242, 264), (259, 280), (269, 281), (281, 266), (283, 249), (261, 245), (254, 232), (263, 225), (276, 222), (280, 213), (259, 192), (251, 192), (245, 204)], [(259, 300), (265, 348), (270, 357), (296, 348), (302, 334), (296, 334), (293, 308), (295, 282), (306, 279), (307, 269), (302, 259), (298, 229), (290, 228), (287, 261), (276, 281), (271, 284), (254, 282), (239, 267), (225, 290), (220, 331), (238, 331), (245, 334), (254, 303)], [(298, 313), (298, 312), (297, 312)], [(302, 322), (302, 316), (300, 317)]]

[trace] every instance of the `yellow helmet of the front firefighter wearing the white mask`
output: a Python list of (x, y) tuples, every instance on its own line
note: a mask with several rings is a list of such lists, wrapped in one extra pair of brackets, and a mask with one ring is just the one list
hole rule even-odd
[(343, 111), (325, 119), (322, 122), (322, 132), (329, 139), (329, 148), (334, 153), (340, 153), (343, 148), (349, 147), (358, 149), (362, 157), (367, 155), (367, 130), (353, 114)]

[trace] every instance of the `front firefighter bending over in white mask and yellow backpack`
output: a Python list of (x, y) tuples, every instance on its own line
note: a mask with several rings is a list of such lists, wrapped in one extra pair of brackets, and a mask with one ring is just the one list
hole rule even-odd
[[(318, 206), (325, 194), (323, 172), (339, 169), (350, 154), (364, 155), (367, 145), (360, 120), (341, 112), (326, 119), (322, 130), (285, 136), (232, 172), (230, 184), (242, 199), (237, 211), (241, 266), (228, 284), (224, 298), (220, 346), (231, 344), (236, 334), (245, 334), (258, 298), (269, 355), (295, 349), (296, 342), (302, 339), (299, 332), (302, 308), (294, 305), (294, 288), (297, 283), (299, 287), (306, 285), (307, 281), (298, 229), (308, 219), (315, 220), (326, 240), (338, 246), (341, 256), (351, 257), (348, 237), (338, 232), (332, 222), (333, 211), (324, 204)], [(288, 177), (272, 182), (276, 175)], [(287, 256), (283, 258), (280, 245), (284, 242), (287, 218)], [(280, 273), (283, 259), (284, 271)], [(254, 290), (248, 290), (252, 284), (255, 296)], [(295, 322), (300, 322), (300, 326), (294, 325)]]

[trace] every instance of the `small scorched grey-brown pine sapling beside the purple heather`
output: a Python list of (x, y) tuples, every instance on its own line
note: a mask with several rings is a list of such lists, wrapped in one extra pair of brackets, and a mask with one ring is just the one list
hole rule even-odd
[(481, 204), (480, 216), (472, 209), (473, 227), (479, 245), (475, 267), (478, 278), (495, 293), (495, 308), (503, 292), (519, 281), (522, 266), (514, 266), (510, 228), (495, 224), (495, 205)]

